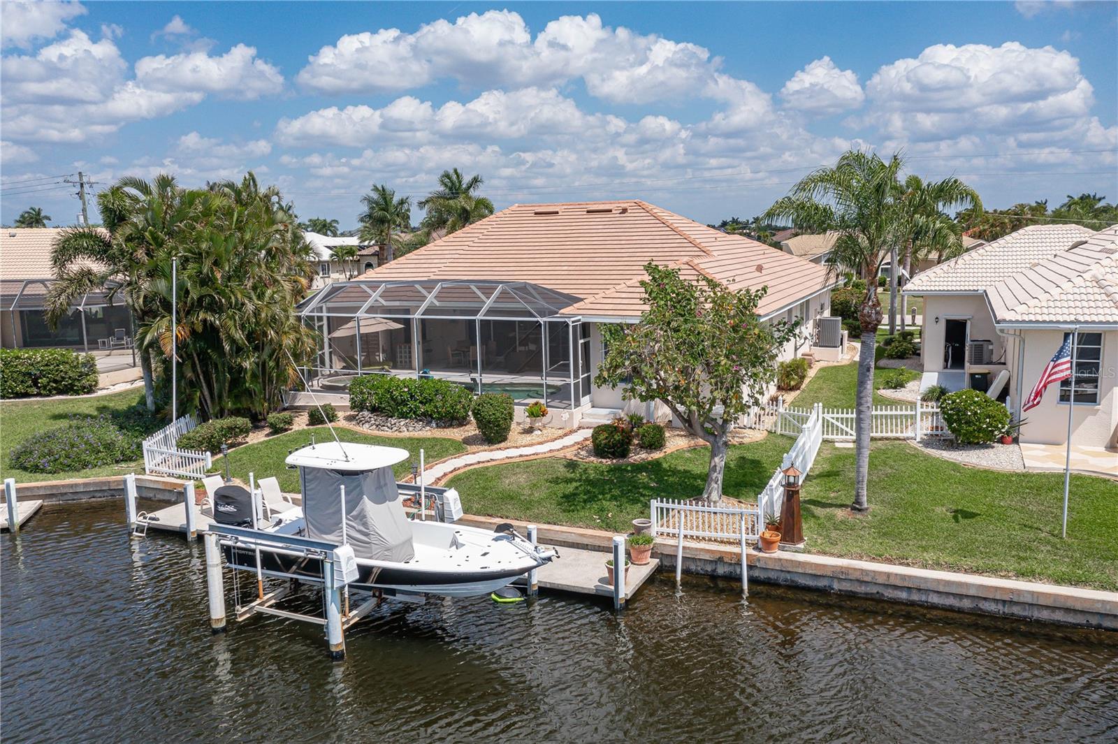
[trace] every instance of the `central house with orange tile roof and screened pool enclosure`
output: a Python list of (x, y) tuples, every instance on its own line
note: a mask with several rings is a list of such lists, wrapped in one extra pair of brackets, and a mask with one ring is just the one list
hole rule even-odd
[(819, 319), (834, 285), (822, 266), (642, 201), (518, 204), (304, 301), (323, 336), (311, 384), (343, 392), (359, 372), (426, 372), (521, 408), (544, 400), (556, 426), (608, 418), (626, 403), (594, 384), (600, 327), (639, 319), (650, 260), (768, 287), (762, 318), (805, 321), (784, 357), (841, 355), (841, 322)]

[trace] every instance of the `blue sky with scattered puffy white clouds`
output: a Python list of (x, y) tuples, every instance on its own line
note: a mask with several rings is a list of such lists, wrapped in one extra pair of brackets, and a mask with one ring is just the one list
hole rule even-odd
[[(357, 227), (444, 169), (512, 203), (764, 211), (851, 147), (988, 208), (1118, 199), (1118, 3), (9, 2), (0, 219), (254, 171)], [(91, 202), (91, 221), (96, 210)], [(413, 210), (418, 222), (421, 212)]]

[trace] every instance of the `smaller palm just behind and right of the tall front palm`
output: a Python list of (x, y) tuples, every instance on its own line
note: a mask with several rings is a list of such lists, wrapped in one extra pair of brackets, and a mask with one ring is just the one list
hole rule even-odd
[[(911, 276), (912, 260), (936, 256), (937, 260), (954, 258), (963, 252), (963, 230), (949, 218), (946, 210), (966, 209), (972, 214), (982, 213), (978, 192), (957, 178), (942, 181), (925, 181), (919, 175), (909, 175), (903, 184), (897, 184), (898, 204), (901, 209), (899, 230), (900, 246), (891, 251), (889, 270), (889, 333), (897, 332), (897, 279), (899, 274), (898, 250), (904, 271)], [(901, 328), (904, 328), (904, 308), (901, 307)]]

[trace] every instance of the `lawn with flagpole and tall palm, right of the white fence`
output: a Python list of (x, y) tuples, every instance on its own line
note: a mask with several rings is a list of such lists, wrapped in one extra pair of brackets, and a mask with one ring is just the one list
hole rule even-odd
[(1071, 477), (1068, 540), (1060, 537), (1063, 475), (997, 473), (875, 442), (870, 513), (851, 516), (854, 450), (824, 443), (804, 483), (807, 550), (931, 569), (1118, 588), (1118, 483)]

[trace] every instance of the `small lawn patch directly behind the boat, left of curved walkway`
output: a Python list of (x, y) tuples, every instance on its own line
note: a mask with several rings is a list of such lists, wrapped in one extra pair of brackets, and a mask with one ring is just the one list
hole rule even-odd
[[(386, 447), (402, 447), (411, 452), (411, 460), (419, 461), (419, 449), (423, 448), (427, 462), (440, 460), (444, 457), (457, 455), (465, 451), (465, 446), (457, 439), (448, 437), (376, 437), (363, 435), (350, 429), (339, 428), (338, 438), (343, 442), (353, 441), (366, 445), (383, 445)], [(290, 450), (299, 449), (311, 443), (311, 436), (315, 441), (333, 441), (330, 429), (326, 427), (311, 427), (299, 431), (268, 437), (263, 441), (253, 445), (238, 447), (229, 452), (229, 475), (247, 483), (248, 473), (253, 471), (257, 478), (275, 476), (280, 479), (280, 487), (285, 493), (299, 493), (299, 473), (288, 470), (284, 465)], [(396, 466), (396, 477), (402, 478), (411, 474), (411, 461), (405, 460)], [(224, 458), (218, 455), (214, 458), (214, 471), (225, 473)]]

